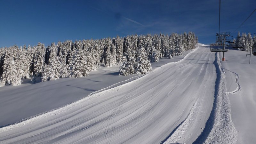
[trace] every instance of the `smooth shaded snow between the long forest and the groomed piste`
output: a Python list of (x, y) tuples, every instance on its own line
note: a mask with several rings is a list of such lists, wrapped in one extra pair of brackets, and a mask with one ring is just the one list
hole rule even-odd
[[(198, 44), (197, 46), (202, 45)], [(177, 62), (183, 56), (174, 59), (160, 59), (151, 63), (152, 69), (169, 62)], [(0, 127), (13, 124), (28, 117), (45, 113), (88, 96), (92, 92), (109, 89), (141, 75), (119, 76), (119, 65), (115, 67), (99, 67), (89, 76), (82, 78), (61, 78), (54, 81), (31, 84), (31, 79), (24, 79), (22, 85), (0, 87)]]

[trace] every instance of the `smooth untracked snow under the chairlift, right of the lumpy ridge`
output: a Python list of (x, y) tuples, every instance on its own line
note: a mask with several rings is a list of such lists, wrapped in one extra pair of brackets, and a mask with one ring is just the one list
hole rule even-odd
[[(221, 68), (227, 80), (231, 117), (237, 130), (237, 143), (255, 143), (256, 137), (256, 56), (249, 57), (237, 50), (228, 50)], [(220, 53), (222, 57), (222, 53)]]

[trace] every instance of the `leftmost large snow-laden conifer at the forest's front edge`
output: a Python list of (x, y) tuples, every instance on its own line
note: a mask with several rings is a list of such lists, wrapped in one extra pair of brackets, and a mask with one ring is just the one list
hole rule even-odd
[(21, 77), (17, 70), (17, 61), (14, 59), (13, 49), (9, 48), (4, 57), (4, 66), (2, 74), (2, 82), (5, 85), (19, 85), (21, 84)]

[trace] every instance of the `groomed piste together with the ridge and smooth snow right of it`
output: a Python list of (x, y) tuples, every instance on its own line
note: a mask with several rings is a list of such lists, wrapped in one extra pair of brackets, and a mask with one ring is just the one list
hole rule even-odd
[(229, 50), (220, 61), (199, 46), (135, 80), (4, 126), (0, 143), (252, 143), (256, 58), (249, 65), (244, 53)]

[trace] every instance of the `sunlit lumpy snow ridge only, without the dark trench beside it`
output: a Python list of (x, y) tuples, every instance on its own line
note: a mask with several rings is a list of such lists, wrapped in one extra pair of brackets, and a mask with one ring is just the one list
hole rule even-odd
[[(218, 71), (220, 73), (219, 92), (216, 100), (215, 119), (213, 128), (204, 143), (236, 143), (237, 131), (231, 119), (230, 101), (227, 95), (225, 75), (220, 70), (218, 57)], [(238, 76), (238, 75), (237, 75)]]

